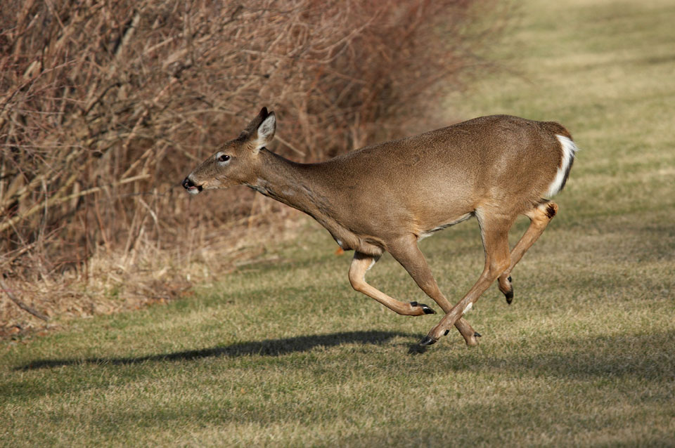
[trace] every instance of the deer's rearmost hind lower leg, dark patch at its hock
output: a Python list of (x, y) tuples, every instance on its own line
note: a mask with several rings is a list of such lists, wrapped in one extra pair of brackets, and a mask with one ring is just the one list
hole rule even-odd
[(558, 205), (555, 202), (544, 201), (537, 204), (533, 209), (525, 212), (530, 220), (529, 228), (522, 235), (518, 243), (513, 247), (510, 253), (510, 265), (499, 276), (499, 291), (506, 296), (506, 303), (509, 305), (513, 301), (513, 284), (511, 284), (511, 271), (513, 267), (518, 264), (520, 259), (527, 249), (532, 247), (532, 244), (541, 236), (546, 230), (546, 226), (551, 222), (555, 213), (558, 213)]

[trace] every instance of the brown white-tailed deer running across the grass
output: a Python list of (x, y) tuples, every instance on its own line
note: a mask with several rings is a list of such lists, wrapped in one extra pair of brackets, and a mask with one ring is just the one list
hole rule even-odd
[[(451, 327), (466, 345), (477, 345), (481, 335), (463, 316), (495, 281), (510, 305), (511, 271), (558, 213), (550, 198), (565, 187), (578, 150), (562, 125), (510, 115), (470, 119), (309, 164), (268, 150), (275, 132), (276, 116), (263, 107), (181, 185), (192, 195), (245, 185), (307, 213), (340, 248), (354, 251), (348, 273), (354, 290), (399, 315), (435, 314), (424, 303), (399, 301), (366, 282), (366, 272), (389, 252), (445, 313), (419, 341), (422, 346)], [(510, 249), (508, 231), (521, 215), (529, 227)], [(480, 228), (484, 268), (451, 305), (418, 242), (470, 218)]]

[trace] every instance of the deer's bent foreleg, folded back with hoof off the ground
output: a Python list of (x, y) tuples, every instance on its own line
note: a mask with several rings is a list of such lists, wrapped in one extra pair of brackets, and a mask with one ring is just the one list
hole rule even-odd
[(361, 252), (354, 252), (352, 264), (349, 265), (349, 282), (352, 287), (366, 296), (374, 298), (390, 310), (404, 316), (421, 316), (425, 314), (435, 314), (436, 312), (424, 303), (410, 302), (405, 303), (397, 301), (395, 298), (373, 288), (366, 283), (366, 271), (380, 259), (380, 256), (366, 255)]

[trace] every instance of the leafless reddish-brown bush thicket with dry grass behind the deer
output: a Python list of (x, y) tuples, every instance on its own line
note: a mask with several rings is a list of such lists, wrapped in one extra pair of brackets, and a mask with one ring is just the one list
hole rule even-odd
[(182, 269), (214, 262), (216, 249), (231, 260), (241, 224), (281, 210), (244, 189), (191, 199), (179, 181), (195, 164), (262, 105), (279, 117), (273, 149), (307, 162), (439, 124), (444, 93), (482, 65), (474, 52), (499, 30), (477, 20), (501, 18), (494, 6), (9, 2), (0, 270), (52, 314), (96, 310), (119, 291), (151, 297), (160, 279), (182, 290)]

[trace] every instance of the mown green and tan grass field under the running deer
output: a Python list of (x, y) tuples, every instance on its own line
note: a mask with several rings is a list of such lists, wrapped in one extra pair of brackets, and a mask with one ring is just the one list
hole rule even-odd
[[(582, 150), (513, 305), (492, 286), (468, 315), (477, 348), (452, 332), (411, 350), (439, 317), (352, 291), (312, 223), (191, 300), (3, 343), (0, 445), (675, 446), (675, 4), (520, 14), (495, 49), (518, 74), (451, 107), (555, 119)], [(475, 220), (420, 246), (461, 298), (482, 268)], [(430, 303), (389, 256), (368, 279)]]

